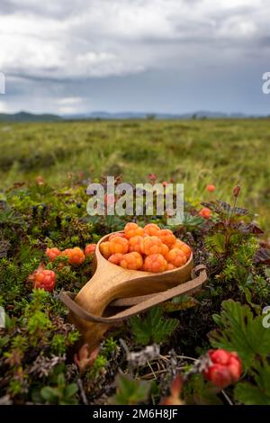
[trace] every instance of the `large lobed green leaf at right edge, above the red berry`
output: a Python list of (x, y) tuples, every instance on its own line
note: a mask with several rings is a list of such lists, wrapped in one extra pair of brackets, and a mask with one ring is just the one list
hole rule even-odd
[(263, 327), (262, 316), (254, 318), (247, 305), (232, 300), (222, 302), (220, 329), (211, 332), (213, 347), (237, 351), (245, 367), (253, 364), (255, 356), (269, 354), (270, 330)]

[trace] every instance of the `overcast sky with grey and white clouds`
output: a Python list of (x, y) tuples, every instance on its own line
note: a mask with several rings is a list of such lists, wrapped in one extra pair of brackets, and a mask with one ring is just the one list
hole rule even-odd
[(1, 0), (0, 112), (270, 113), (269, 0)]

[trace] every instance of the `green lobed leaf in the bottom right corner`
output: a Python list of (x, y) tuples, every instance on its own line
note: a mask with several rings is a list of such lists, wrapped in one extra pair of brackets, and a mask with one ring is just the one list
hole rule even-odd
[(254, 383), (238, 383), (235, 398), (246, 405), (270, 405), (270, 365), (266, 360), (256, 360), (250, 369)]

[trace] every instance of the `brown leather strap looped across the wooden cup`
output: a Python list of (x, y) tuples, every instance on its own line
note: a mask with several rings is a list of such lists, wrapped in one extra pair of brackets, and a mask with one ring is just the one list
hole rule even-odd
[(115, 302), (112, 302), (112, 305), (126, 306), (130, 305), (130, 303), (135, 305), (132, 305), (132, 307), (129, 309), (121, 311), (108, 318), (94, 316), (94, 314), (85, 311), (74, 300), (72, 300), (70, 293), (61, 292), (59, 299), (67, 306), (70, 311), (72, 311), (72, 313), (74, 313), (80, 319), (96, 323), (112, 324), (121, 320), (129, 319), (131, 316), (139, 314), (142, 311), (147, 311), (151, 307), (171, 300), (177, 295), (197, 292), (202, 287), (202, 284), (204, 284), (207, 280), (206, 266), (195, 266), (192, 271), (192, 278), (193, 279), (190, 281), (185, 282), (184, 284), (179, 284), (174, 288), (170, 288), (162, 293), (144, 295), (140, 302), (139, 297), (116, 300)]

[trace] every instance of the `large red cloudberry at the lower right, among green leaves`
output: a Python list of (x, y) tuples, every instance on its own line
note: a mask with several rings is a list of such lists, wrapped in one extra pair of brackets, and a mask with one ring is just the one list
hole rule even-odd
[(238, 381), (242, 373), (242, 363), (237, 353), (220, 348), (210, 350), (208, 356), (212, 364), (203, 371), (207, 380), (221, 389)]

